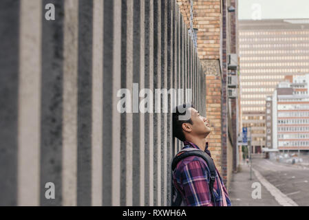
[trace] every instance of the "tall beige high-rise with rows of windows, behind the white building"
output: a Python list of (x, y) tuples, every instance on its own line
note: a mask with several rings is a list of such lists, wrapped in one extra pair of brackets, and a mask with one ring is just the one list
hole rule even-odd
[(239, 20), (242, 126), (253, 152), (266, 146), (266, 96), (285, 76), (309, 72), (309, 19)]

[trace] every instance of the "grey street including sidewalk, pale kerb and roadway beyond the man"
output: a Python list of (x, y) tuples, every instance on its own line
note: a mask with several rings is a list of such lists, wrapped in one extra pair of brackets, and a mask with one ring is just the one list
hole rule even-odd
[[(242, 172), (233, 177), (230, 193), (233, 206), (309, 206), (308, 167), (281, 164), (260, 157), (254, 157), (252, 164), (253, 180), (248, 181), (248, 164), (242, 164)], [(261, 183), (261, 199), (251, 197), (253, 182)]]

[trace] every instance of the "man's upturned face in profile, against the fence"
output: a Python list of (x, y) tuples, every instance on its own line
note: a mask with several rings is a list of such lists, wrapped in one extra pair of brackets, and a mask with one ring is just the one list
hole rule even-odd
[(211, 126), (209, 124), (209, 120), (204, 118), (200, 113), (193, 108), (191, 110), (191, 120), (193, 122), (192, 126), (192, 135), (203, 135), (207, 137), (209, 133), (211, 133)]

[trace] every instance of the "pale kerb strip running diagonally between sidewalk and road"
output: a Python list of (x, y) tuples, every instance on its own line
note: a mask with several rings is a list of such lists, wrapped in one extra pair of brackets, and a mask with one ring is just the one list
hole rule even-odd
[(295, 201), (290, 199), (287, 195), (284, 195), (277, 187), (275, 187), (273, 184), (270, 184), (269, 181), (267, 181), (260, 173), (259, 171), (252, 169), (255, 173), (255, 176), (259, 181), (263, 184), (263, 186), (270, 192), (273, 197), (275, 197), (276, 201), (281, 206), (298, 206)]

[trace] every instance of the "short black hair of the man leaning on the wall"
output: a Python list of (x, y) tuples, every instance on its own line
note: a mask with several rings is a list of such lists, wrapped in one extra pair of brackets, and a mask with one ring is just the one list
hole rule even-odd
[[(187, 109), (189, 108), (194, 108), (193, 104), (189, 104), (189, 103), (180, 104), (173, 109), (173, 137), (177, 137), (182, 142), (186, 140), (186, 138), (184, 137), (184, 131), (182, 130), (182, 124), (184, 123), (193, 124), (193, 122), (191, 118), (189, 120), (180, 120), (179, 116), (185, 115), (187, 112)], [(180, 112), (180, 109), (183, 112)]]

